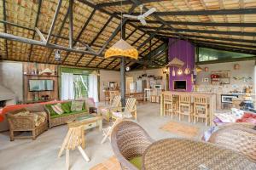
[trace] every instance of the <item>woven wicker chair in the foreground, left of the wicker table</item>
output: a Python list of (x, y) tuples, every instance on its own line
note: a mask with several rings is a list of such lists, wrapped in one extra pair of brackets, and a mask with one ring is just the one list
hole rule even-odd
[(154, 142), (148, 133), (136, 122), (119, 122), (111, 134), (111, 145), (114, 155), (120, 162), (122, 169), (137, 170), (129, 160), (143, 156), (144, 150)]

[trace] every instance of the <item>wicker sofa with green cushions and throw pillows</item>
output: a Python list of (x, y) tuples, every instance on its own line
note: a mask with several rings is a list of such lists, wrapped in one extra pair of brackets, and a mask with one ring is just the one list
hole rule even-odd
[[(72, 107), (74, 102), (83, 102), (82, 109), (73, 110)], [(90, 101), (88, 99), (78, 99), (44, 105), (45, 111), (48, 113), (49, 128), (66, 124), (67, 122), (74, 120), (76, 117), (89, 114), (89, 102)], [(56, 109), (54, 107), (56, 107)], [(58, 108), (61, 108), (63, 111), (61, 111), (61, 114), (60, 112), (58, 113)]]

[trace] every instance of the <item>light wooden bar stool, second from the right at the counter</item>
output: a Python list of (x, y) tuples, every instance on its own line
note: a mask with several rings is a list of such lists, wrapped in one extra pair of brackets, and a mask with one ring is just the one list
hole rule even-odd
[(181, 115), (189, 116), (189, 122), (191, 116), (193, 116), (193, 103), (191, 102), (191, 96), (188, 94), (181, 94), (179, 96), (179, 116), (178, 119), (181, 120)]

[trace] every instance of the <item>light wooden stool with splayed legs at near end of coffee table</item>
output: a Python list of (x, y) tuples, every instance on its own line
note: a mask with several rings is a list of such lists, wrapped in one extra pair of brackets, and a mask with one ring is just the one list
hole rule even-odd
[(83, 156), (85, 161), (90, 161), (89, 157), (84, 152), (85, 140), (84, 140), (84, 126), (72, 126), (69, 125), (67, 135), (61, 145), (58, 157), (61, 157), (62, 152), (66, 150), (66, 168), (69, 169), (69, 150), (79, 149), (79, 152)]

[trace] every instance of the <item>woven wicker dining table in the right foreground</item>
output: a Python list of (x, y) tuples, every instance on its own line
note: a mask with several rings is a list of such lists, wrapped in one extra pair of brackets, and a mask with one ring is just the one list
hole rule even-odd
[(143, 170), (256, 170), (234, 150), (190, 139), (161, 139), (143, 153)]

